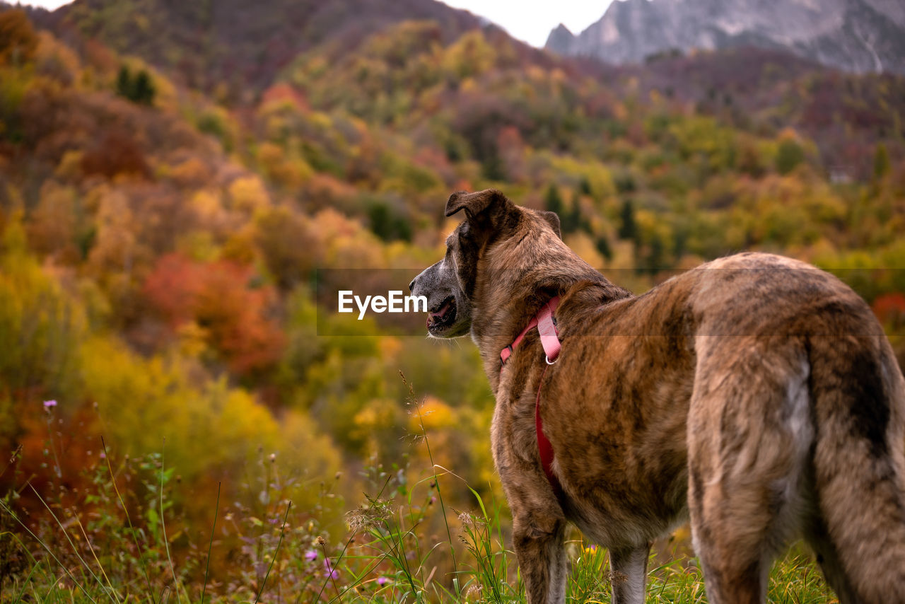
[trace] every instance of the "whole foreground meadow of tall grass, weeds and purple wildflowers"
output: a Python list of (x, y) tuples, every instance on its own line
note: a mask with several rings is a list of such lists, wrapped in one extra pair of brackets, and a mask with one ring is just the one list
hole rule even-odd
[[(420, 419), (414, 394), (410, 402)], [(86, 470), (90, 488), (78, 496), (52, 485), (36, 497), (43, 511), (23, 507), (24, 491), (0, 500), (0, 604), (524, 602), (508, 511), (433, 465), (419, 424), (430, 465), (420, 473), (368, 467), (374, 490), (346, 514), (348, 530), (337, 538), (317, 511), (296, 510), (280, 496), (275, 462), (262, 455), (267, 503), (257, 512), (237, 504), (222, 510), (218, 485), (204, 539), (185, 542), (189, 527), (167, 500), (178, 485), (164, 456), (115, 466), (104, 446), (103, 463)], [(121, 489), (124, 483), (131, 489)], [(444, 501), (454, 490), (470, 495), (469, 509)], [(684, 529), (655, 545), (647, 602), (707, 601), (688, 541)], [(567, 601), (609, 602), (607, 552), (578, 532), (567, 551)], [(768, 601), (816, 604), (834, 595), (811, 555), (794, 546), (771, 570)]]

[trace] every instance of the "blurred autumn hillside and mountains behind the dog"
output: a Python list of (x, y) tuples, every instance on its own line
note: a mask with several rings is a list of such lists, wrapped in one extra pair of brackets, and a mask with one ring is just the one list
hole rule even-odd
[(362, 493), (443, 503), (425, 539), (503, 505), (472, 342), (316, 299), (433, 264), (455, 190), (557, 212), (634, 292), (817, 264), (905, 363), (905, 5), (551, 4), (0, 2), (0, 577), (81, 540), (251, 599), (281, 520), (301, 590)]

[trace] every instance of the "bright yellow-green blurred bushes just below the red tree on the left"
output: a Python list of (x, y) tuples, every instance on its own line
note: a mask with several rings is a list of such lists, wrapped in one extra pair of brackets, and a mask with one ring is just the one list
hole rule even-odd
[(84, 341), (80, 356), (85, 388), (119, 455), (164, 452), (167, 467), (187, 480), (214, 468), (236, 474), (259, 448), (287, 453), (282, 469), (292, 475), (338, 470), (338, 454), (310, 419), (289, 413), (278, 422), (251, 394), (224, 379), (195, 386), (178, 358), (145, 360), (102, 337)]

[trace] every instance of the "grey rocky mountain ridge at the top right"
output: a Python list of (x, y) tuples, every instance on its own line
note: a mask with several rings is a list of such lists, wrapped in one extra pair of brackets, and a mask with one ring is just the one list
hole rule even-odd
[(559, 25), (546, 47), (606, 62), (752, 45), (849, 72), (905, 73), (899, 0), (617, 0), (580, 34)]

